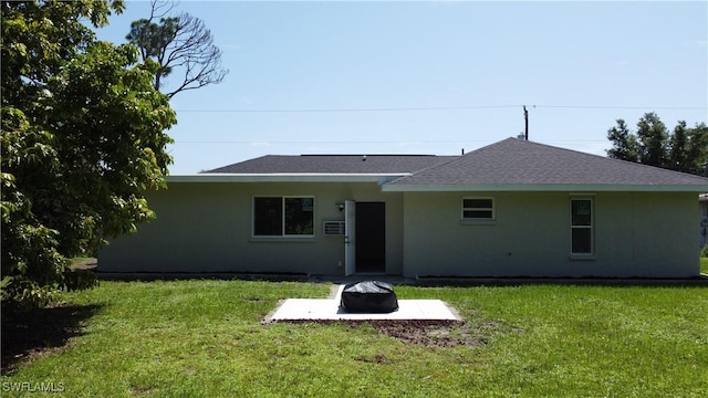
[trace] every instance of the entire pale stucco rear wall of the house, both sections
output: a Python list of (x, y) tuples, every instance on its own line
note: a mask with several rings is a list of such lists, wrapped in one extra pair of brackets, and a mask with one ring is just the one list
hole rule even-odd
[[(386, 203), (386, 273), (406, 276), (645, 276), (699, 273), (696, 195), (580, 192), (593, 199), (594, 256), (570, 256), (568, 192), (382, 192), (376, 184), (170, 184), (157, 220), (113, 240), (102, 272), (293, 272), (342, 275), (336, 203)], [(314, 196), (315, 237), (251, 237), (253, 196)], [(496, 221), (460, 220), (461, 198), (493, 197)], [(405, 265), (404, 265), (405, 264)]]

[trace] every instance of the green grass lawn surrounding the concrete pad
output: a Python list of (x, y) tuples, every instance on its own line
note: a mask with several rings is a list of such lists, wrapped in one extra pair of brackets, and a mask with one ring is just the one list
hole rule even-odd
[(456, 347), (371, 325), (261, 324), (279, 300), (329, 290), (102, 282), (37, 315), (82, 327), (14, 363), (0, 395), (43, 383), (71, 397), (708, 396), (708, 287), (396, 286), (399, 298), (447, 301), (483, 342)]

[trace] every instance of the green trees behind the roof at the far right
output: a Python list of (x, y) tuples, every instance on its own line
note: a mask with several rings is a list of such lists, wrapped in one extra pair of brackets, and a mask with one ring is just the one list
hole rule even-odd
[(646, 113), (633, 133), (623, 119), (607, 130), (607, 156), (671, 170), (708, 176), (708, 127), (687, 127), (679, 121), (673, 133), (655, 113)]

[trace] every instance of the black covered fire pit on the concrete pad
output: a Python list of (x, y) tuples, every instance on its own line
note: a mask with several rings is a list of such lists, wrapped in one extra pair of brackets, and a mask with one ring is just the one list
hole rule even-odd
[(392, 313), (398, 310), (398, 298), (389, 283), (363, 281), (344, 286), (340, 306), (348, 313)]

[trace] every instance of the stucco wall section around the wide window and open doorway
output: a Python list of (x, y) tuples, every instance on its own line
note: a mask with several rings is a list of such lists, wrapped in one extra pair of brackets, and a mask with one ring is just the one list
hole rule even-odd
[[(253, 238), (253, 196), (313, 196), (314, 238)], [(344, 237), (323, 221), (344, 220), (345, 200), (386, 203), (386, 273), (403, 272), (403, 195), (376, 184), (170, 184), (150, 193), (157, 219), (98, 255), (101, 272), (344, 273)]]

